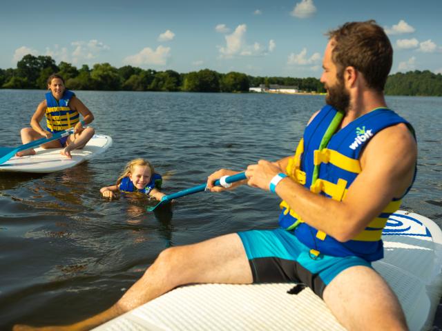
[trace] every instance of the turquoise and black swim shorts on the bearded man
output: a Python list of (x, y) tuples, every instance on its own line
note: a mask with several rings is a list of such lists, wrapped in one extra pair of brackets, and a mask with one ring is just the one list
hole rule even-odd
[(360, 257), (311, 257), (310, 249), (293, 232), (282, 228), (238, 234), (249, 259), (253, 283), (303, 283), (322, 298), (325, 287), (341, 271), (356, 265), (372, 268)]

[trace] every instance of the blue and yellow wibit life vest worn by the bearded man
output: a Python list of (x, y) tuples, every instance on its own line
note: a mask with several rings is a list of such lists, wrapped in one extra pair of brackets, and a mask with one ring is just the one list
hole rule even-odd
[[(309, 188), (311, 192), (342, 201), (354, 179), (361, 172), (359, 161), (365, 144), (376, 133), (398, 123), (410, 123), (390, 109), (376, 108), (338, 130), (343, 112), (325, 106), (305, 129), (304, 136), (289, 159), (287, 174), (291, 179)], [(413, 134), (414, 131), (412, 130)], [(369, 188), (367, 188), (369, 190)], [(410, 190), (410, 188), (409, 188)], [(408, 192), (408, 191), (407, 191)], [(405, 195), (405, 194), (404, 194)], [(342, 243), (307, 223), (296, 211), (282, 201), (279, 223), (282, 228), (294, 230), (296, 237), (309, 248), (311, 256), (320, 253), (345, 257), (358, 256), (367, 261), (383, 257), (382, 230), (387, 219), (401, 205), (402, 199), (393, 199), (367, 227), (352, 240)], [(324, 215), (332, 221), (333, 215)]]

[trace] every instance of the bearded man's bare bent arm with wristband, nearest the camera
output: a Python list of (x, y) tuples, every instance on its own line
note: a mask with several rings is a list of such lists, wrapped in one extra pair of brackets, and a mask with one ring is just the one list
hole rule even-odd
[[(343, 201), (334, 201), (290, 178), (282, 179), (276, 193), (296, 210), (302, 221), (338, 241), (348, 241), (361, 232), (394, 198), (401, 197), (412, 182), (416, 164), (416, 141), (404, 124), (385, 128), (367, 144), (361, 157), (361, 174), (349, 187)], [(273, 163), (249, 165), (249, 185), (269, 189), (281, 172)]]

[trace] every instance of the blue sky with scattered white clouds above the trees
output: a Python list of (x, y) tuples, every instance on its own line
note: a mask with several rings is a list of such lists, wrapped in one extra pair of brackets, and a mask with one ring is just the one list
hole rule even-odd
[(319, 78), (325, 33), (375, 19), (394, 48), (391, 73), (442, 73), (441, 18), (441, 0), (5, 0), (0, 68), (32, 54), (77, 68)]

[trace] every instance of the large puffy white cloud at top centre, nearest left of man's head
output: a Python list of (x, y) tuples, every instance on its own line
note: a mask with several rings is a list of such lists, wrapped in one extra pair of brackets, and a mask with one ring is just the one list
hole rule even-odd
[(220, 47), (220, 58), (221, 59), (230, 59), (234, 56), (262, 56), (266, 55), (269, 52), (273, 52), (273, 49), (276, 46), (275, 41), (271, 39), (269, 41), (269, 48), (265, 46), (261, 46), (260, 43), (255, 42), (253, 45), (247, 45), (245, 34), (247, 32), (247, 26), (245, 24), (241, 24), (237, 26), (235, 31), (232, 34), (228, 34), (226, 37), (226, 46)]

